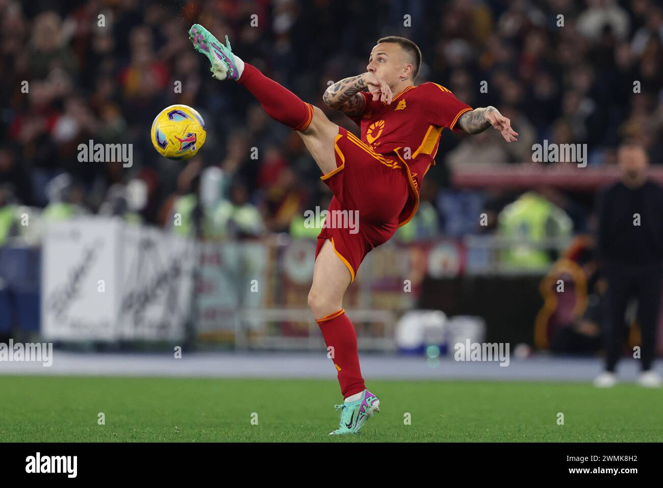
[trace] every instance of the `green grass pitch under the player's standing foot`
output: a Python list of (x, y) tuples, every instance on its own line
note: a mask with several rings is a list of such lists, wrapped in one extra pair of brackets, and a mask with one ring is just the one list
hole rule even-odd
[(330, 438), (341, 401), (335, 380), (0, 376), (0, 442), (663, 440), (663, 390), (635, 385), (379, 380), (369, 388), (382, 412), (359, 434)]

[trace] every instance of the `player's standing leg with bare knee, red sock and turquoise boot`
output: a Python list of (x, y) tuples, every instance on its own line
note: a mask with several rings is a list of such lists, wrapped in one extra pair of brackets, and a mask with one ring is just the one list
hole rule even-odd
[(343, 404), (335, 405), (337, 410), (341, 409), (341, 422), (330, 435), (355, 433), (380, 411), (380, 400), (364, 385), (357, 333), (343, 310), (343, 295), (350, 282), (347, 266), (336, 255), (331, 241), (326, 240), (316, 258), (308, 304), (322, 331), (345, 399)]

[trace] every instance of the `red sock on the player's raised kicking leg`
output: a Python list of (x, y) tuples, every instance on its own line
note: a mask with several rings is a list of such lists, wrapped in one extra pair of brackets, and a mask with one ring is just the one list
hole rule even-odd
[(284, 123), (296, 131), (303, 131), (311, 123), (313, 106), (267, 78), (255, 66), (245, 62), (242, 76), (237, 82), (243, 84), (259, 100), (267, 115), (276, 122)]

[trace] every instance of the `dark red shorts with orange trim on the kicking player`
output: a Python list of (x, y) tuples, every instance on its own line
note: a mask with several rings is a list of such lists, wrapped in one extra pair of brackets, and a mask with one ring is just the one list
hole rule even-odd
[(365, 256), (398, 228), (398, 216), (408, 200), (407, 170), (395, 155), (376, 153), (343, 127), (334, 150), (336, 169), (321, 177), (333, 198), (318, 235), (316, 258), (325, 240), (330, 240), (354, 281)]

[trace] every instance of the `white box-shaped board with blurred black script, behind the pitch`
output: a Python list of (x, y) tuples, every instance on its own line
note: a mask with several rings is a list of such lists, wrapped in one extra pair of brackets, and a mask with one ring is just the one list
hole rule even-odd
[(42, 260), (44, 337), (184, 338), (194, 241), (118, 218), (80, 218), (48, 225)]

